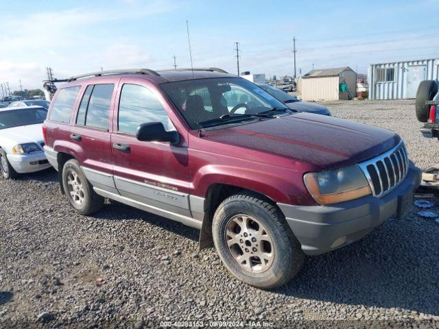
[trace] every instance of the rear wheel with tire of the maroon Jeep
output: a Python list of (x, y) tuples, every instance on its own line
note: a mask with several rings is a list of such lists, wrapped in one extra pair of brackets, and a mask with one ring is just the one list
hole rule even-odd
[(80, 215), (93, 214), (104, 206), (104, 197), (93, 191), (78, 160), (69, 160), (62, 167), (62, 186), (67, 200)]

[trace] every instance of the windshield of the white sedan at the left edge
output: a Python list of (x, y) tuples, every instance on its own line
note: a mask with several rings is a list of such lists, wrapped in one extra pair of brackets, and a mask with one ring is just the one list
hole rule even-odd
[(0, 130), (20, 127), (22, 125), (37, 125), (47, 117), (45, 108), (23, 108), (21, 110), (1, 110)]

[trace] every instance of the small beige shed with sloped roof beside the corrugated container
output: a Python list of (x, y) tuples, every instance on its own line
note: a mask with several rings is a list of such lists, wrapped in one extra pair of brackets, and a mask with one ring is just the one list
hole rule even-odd
[[(346, 84), (347, 88), (343, 88), (342, 84)], [(356, 88), (357, 73), (346, 66), (309, 71), (298, 80), (297, 92), (303, 101), (336, 101), (353, 99)]]

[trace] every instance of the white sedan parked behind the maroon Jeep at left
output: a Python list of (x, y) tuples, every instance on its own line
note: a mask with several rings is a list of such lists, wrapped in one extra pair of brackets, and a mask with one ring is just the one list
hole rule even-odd
[(4, 178), (50, 167), (43, 151), (46, 117), (47, 110), (41, 106), (0, 110), (0, 172)]

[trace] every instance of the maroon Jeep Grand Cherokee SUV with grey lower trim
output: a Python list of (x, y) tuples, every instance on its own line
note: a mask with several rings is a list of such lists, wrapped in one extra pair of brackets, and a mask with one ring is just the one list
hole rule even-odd
[(108, 197), (198, 228), (261, 288), (403, 215), (420, 182), (393, 132), (293, 112), (220, 69), (72, 77), (43, 130), (80, 214)]

